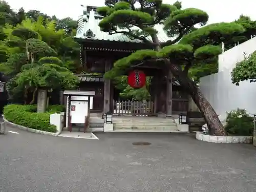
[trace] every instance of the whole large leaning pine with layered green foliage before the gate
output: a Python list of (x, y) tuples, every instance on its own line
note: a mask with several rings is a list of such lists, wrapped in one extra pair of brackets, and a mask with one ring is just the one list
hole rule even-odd
[[(140, 63), (143, 65), (145, 61), (162, 65), (163, 69), (168, 67), (198, 105), (210, 134), (225, 135), (218, 115), (198, 90), (196, 83), (188, 77), (188, 70), (197, 63), (215, 60), (221, 52), (221, 41), (230, 40), (233, 35), (244, 32), (244, 28), (236, 23), (220, 23), (195, 29), (195, 25), (207, 23), (208, 15), (202, 10), (181, 9), (180, 2), (168, 5), (161, 0), (142, 0), (139, 1), (139, 7), (136, 7), (136, 3), (106, 0), (106, 6), (97, 10), (104, 17), (99, 26), (109, 34), (123, 33), (132, 39), (140, 39), (154, 47), (154, 50), (140, 50), (118, 60), (105, 77), (125, 75), (127, 69)], [(157, 24), (163, 24), (166, 34), (173, 40), (160, 42), (158, 32), (154, 29)]]

